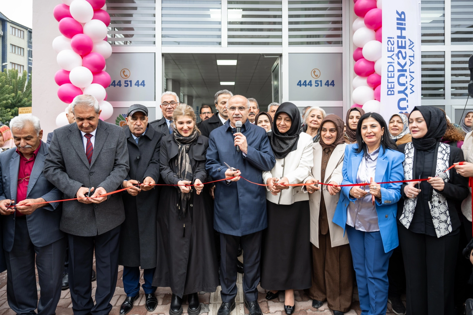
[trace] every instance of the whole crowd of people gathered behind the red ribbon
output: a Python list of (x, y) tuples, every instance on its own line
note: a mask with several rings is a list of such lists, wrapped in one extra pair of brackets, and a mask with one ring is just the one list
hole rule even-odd
[(47, 143), (35, 116), (0, 126), (0, 270), (14, 312), (55, 314), (70, 288), (74, 314), (108, 314), (123, 265), (121, 315), (140, 286), (149, 312), (157, 287), (170, 287), (170, 315), (184, 297), (198, 315), (198, 293), (221, 286), (218, 315), (229, 315), (238, 272), (250, 315), (262, 314), (258, 285), (268, 300), (283, 292), (288, 315), (302, 289), (342, 315), (355, 285), (363, 315), (388, 302), (396, 314), (459, 314), (472, 293), (473, 243), (461, 252), (472, 240), (473, 111), (456, 125), (432, 106), (389, 121), (353, 107), (343, 121), (291, 102), (260, 111), (222, 90), (198, 123), (175, 93), (160, 101), (161, 119), (134, 104), (122, 128), (79, 95)]

